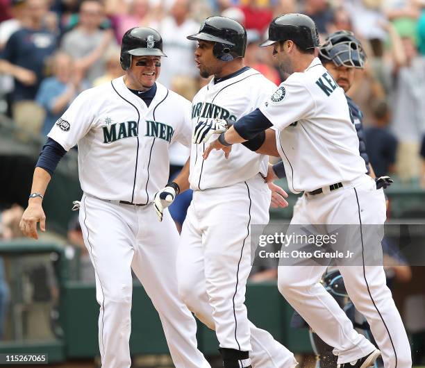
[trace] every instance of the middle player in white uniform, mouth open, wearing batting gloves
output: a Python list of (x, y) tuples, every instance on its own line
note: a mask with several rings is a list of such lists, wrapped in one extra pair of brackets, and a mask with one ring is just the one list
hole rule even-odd
[[(247, 33), (233, 19), (209, 17), (188, 39), (198, 42), (195, 61), (201, 76), (213, 76), (192, 101), (193, 127), (212, 124), (214, 118), (235, 122), (276, 90), (262, 74), (244, 67)], [(255, 151), (254, 145), (247, 144)], [(156, 194), (161, 217), (179, 190), (190, 183), (194, 191), (178, 247), (178, 291), (188, 308), (216, 331), (224, 367), (294, 367), (293, 354), (253, 326), (244, 306), (251, 225), (269, 221), (270, 190), (262, 177), (267, 156), (239, 145), (232, 160), (217, 152), (207, 162), (204, 149), (192, 144), (190, 159), (172, 183), (177, 191), (169, 185)]]

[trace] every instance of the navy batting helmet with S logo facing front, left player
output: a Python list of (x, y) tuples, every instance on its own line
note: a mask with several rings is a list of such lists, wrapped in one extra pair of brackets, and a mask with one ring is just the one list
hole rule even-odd
[(163, 53), (163, 39), (149, 27), (131, 28), (122, 36), (119, 62), (124, 70), (131, 67), (131, 56), (167, 56)]

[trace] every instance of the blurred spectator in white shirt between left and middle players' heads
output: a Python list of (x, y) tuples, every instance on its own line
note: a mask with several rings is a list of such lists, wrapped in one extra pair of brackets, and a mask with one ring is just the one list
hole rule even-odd
[(196, 78), (198, 75), (194, 64), (194, 42), (186, 38), (199, 31), (199, 23), (190, 17), (190, 4), (190, 0), (174, 0), (169, 15), (158, 25), (152, 25), (163, 36), (164, 52), (168, 56), (161, 60), (163, 67), (158, 81), (168, 88), (175, 76)]

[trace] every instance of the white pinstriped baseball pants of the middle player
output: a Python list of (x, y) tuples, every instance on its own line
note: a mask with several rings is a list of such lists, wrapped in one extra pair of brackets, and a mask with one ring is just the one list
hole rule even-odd
[(256, 368), (291, 368), (297, 365), (294, 355), (256, 328), (244, 305), (250, 225), (267, 224), (269, 205), (270, 192), (260, 176), (194, 191), (178, 247), (178, 292), (199, 320), (216, 331), (220, 347), (249, 351)]

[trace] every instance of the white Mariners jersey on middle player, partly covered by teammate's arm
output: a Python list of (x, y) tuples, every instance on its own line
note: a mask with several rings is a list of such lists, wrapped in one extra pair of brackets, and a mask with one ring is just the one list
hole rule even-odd
[[(217, 84), (213, 78), (192, 101), (192, 128), (209, 118), (226, 119), (234, 123), (258, 108), (274, 90), (274, 83), (251, 68)], [(213, 135), (208, 142), (217, 137)], [(232, 147), (228, 160), (224, 159), (223, 151), (212, 151), (208, 160), (203, 160), (202, 154), (208, 142), (192, 144), (189, 176), (192, 190), (226, 187), (253, 178), (259, 172), (267, 174), (267, 156), (258, 155), (242, 144)]]

